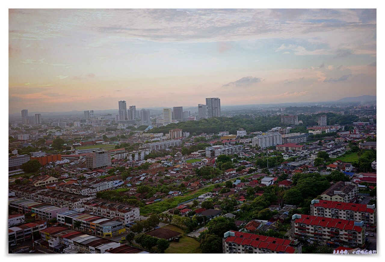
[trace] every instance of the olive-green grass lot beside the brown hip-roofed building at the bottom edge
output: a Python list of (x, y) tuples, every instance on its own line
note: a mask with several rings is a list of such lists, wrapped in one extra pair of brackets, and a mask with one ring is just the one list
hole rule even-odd
[[(184, 233), (184, 231), (182, 229), (180, 229), (179, 227), (176, 227), (174, 225), (166, 225), (166, 226), (164, 226), (164, 228)], [(165, 253), (166, 254), (167, 253), (168, 254), (172, 254), (172, 253), (196, 254), (196, 253), (202, 253), (202, 252), (199, 249), (199, 242), (197, 240), (183, 234), (183, 236), (179, 239), (179, 242), (175, 242), (175, 241), (170, 242), (170, 246), (168, 249), (166, 249)]]

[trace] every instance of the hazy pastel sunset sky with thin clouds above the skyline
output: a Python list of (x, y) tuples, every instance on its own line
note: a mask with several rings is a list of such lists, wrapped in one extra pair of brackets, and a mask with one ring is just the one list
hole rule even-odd
[(10, 9), (9, 112), (376, 95), (375, 9)]

